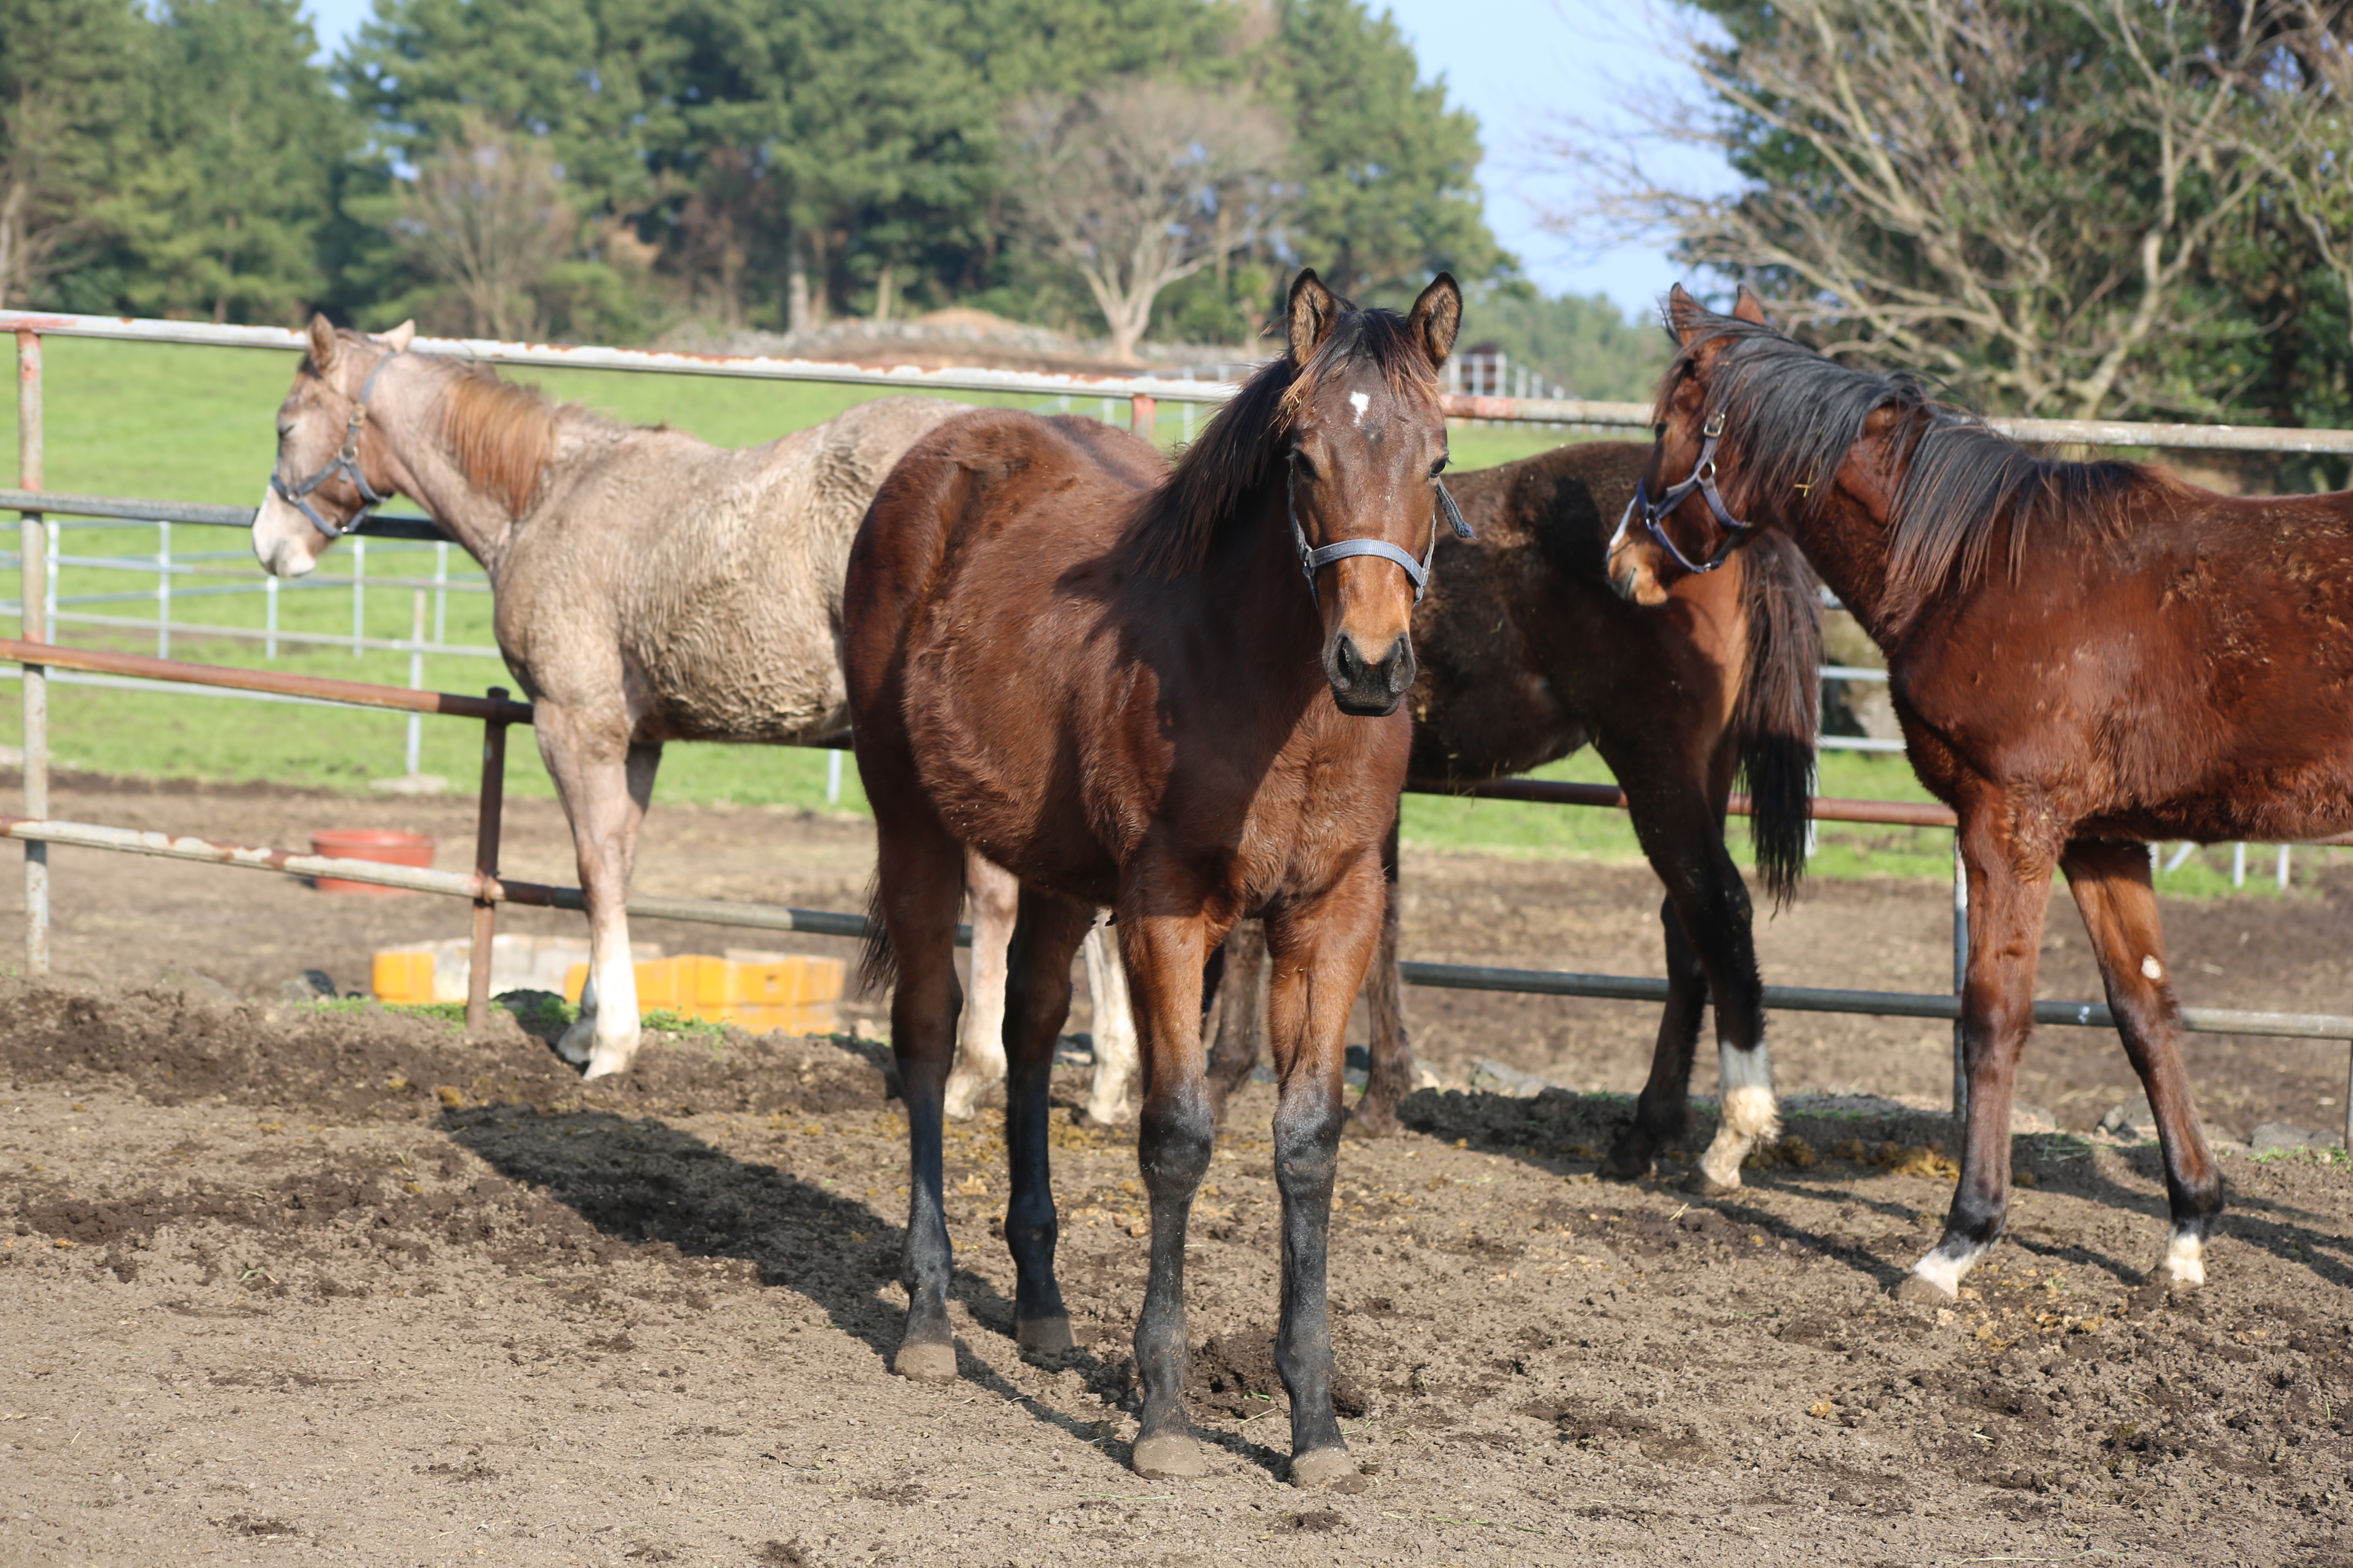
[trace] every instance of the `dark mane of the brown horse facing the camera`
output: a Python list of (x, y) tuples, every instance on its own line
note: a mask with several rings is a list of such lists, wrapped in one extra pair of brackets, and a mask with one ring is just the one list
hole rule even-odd
[(1209, 428), (1176, 458), (1169, 477), (1144, 496), (1127, 531), (1141, 571), (1174, 581), (1200, 567), (1285, 447), (1301, 409), (1325, 376), (1369, 362), (1398, 395), (1438, 397), (1438, 369), (1395, 310), (1358, 310), (1339, 301), (1341, 317), (1306, 367), (1285, 353), (1242, 383)]

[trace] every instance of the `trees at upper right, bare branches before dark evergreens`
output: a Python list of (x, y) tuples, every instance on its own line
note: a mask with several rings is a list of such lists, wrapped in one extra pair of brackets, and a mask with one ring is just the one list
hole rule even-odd
[(1988, 411), (2353, 421), (2344, 0), (1680, 9), (1694, 89), (1649, 99), (1652, 141), (1558, 139), (1595, 193), (1567, 226), (1664, 230), (1826, 353)]

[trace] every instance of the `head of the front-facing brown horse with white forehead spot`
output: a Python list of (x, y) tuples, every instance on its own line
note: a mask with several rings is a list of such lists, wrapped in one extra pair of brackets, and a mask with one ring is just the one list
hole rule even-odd
[(1391, 715), (1414, 684), (1414, 604), (1440, 505), (1459, 517), (1438, 480), (1438, 369), (1459, 327), (1461, 289), (1447, 273), (1402, 322), (1351, 308), (1313, 270), (1292, 282), (1285, 496), (1341, 712)]

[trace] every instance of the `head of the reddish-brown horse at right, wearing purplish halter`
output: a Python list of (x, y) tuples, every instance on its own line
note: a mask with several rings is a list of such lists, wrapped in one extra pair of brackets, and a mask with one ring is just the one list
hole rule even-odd
[[(1748, 284), (1732, 317), (1769, 324)], [(1755, 524), (1725, 501), (1725, 489), (1739, 489), (1739, 444), (1727, 444), (1732, 430), (1715, 388), (1725, 339), (1708, 322), (1720, 320), (1680, 282), (1666, 296), (1666, 331), (1678, 353), (1652, 404), (1649, 465), (1609, 538), (1609, 585), (1633, 604), (1664, 604), (1675, 578), (1715, 571), (1755, 536)]]

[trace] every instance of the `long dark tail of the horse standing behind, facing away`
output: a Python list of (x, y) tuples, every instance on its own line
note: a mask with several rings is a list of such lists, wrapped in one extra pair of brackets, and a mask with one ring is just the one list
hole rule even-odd
[(1774, 907), (1798, 893), (1821, 741), (1821, 602), (1798, 545), (1767, 534), (1741, 552), (1748, 668), (1732, 715), (1748, 842)]

